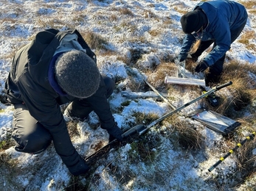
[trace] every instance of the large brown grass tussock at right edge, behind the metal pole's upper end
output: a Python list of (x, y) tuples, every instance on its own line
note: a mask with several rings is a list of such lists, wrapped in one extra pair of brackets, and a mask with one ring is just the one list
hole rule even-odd
[(233, 119), (241, 118), (246, 109), (255, 111), (256, 65), (237, 60), (226, 62), (219, 84), (229, 81), (232, 85), (216, 93), (220, 97), (219, 107), (210, 109)]

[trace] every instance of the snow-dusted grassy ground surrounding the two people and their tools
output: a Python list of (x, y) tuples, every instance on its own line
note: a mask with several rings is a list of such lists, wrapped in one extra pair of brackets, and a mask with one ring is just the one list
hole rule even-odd
[[(128, 99), (122, 96), (122, 90), (131, 90), (131, 78), (143, 83), (145, 73), (139, 68), (153, 68), (168, 55), (179, 54), (181, 31), (179, 19), (184, 12), (190, 11), (199, 1), (187, 0), (1, 0), (0, 2), (0, 91), (10, 71), (10, 65), (21, 46), (30, 42), (36, 32), (44, 29), (77, 29), (82, 35), (93, 32), (105, 38), (108, 53), (95, 50), (100, 71), (107, 76), (116, 77), (117, 89), (109, 99), (111, 109), (118, 126), (123, 130), (136, 124), (135, 113), (154, 114), (158, 117), (170, 112), (164, 101), (155, 98)], [(243, 2), (248, 1), (240, 1)], [(252, 1), (252, 4), (254, 1)], [(249, 10), (249, 19), (243, 30), (254, 32), (249, 43), (256, 46), (256, 5)], [(256, 64), (256, 50), (246, 48), (238, 40), (232, 44), (227, 57), (241, 62)], [(127, 66), (125, 60), (133, 60), (136, 55), (136, 68)], [(204, 53), (205, 54), (205, 53)], [(204, 56), (204, 55), (202, 55)], [(131, 76), (131, 73), (134, 73)], [(153, 78), (153, 76), (148, 76)], [(196, 98), (194, 91), (179, 87), (176, 90), (176, 107)], [(174, 96), (174, 95), (172, 95)], [(124, 104), (128, 103), (128, 104)], [(201, 107), (200, 101), (187, 107), (187, 113)], [(10, 136), (13, 107), (0, 104), (0, 143)], [(178, 117), (177, 117), (178, 118)], [(180, 120), (186, 120), (179, 117)], [(0, 152), (0, 190), (255, 190), (255, 173), (238, 181), (235, 178), (237, 166), (235, 156), (230, 156), (211, 173), (208, 168), (224, 156), (230, 147), (222, 151), (217, 145), (225, 145), (224, 138), (196, 121), (187, 119), (196, 126), (204, 137), (204, 149), (184, 150), (168, 139), (170, 126), (152, 128), (147, 140), (157, 140), (151, 155), (152, 162), (136, 157), (134, 145), (124, 145), (118, 151), (110, 152), (94, 166), (89, 177), (74, 178), (55, 153), (53, 145), (38, 155), (18, 153), (14, 146)], [(92, 154), (97, 145), (108, 143), (108, 134), (100, 129), (94, 112), (88, 123), (77, 123), (78, 134), (72, 137), (72, 143), (83, 156)], [(147, 123), (147, 122), (145, 122)], [(95, 127), (96, 126), (96, 127)], [(241, 127), (243, 128), (243, 124)], [(158, 132), (158, 133), (156, 133)], [(157, 136), (159, 134), (159, 136)], [(246, 132), (244, 133), (246, 136)], [(242, 137), (243, 138), (243, 137)], [(147, 144), (145, 140), (145, 147)], [(0, 144), (1, 145), (1, 144)], [(152, 145), (151, 145), (152, 147)], [(256, 153), (253, 150), (254, 154)], [(8, 158), (10, 157), (10, 159)], [(8, 158), (8, 160), (7, 160)], [(134, 161), (137, 159), (137, 161)], [(8, 162), (6, 162), (8, 161)], [(8, 168), (10, 167), (10, 168)], [(255, 166), (252, 166), (255, 168)]]

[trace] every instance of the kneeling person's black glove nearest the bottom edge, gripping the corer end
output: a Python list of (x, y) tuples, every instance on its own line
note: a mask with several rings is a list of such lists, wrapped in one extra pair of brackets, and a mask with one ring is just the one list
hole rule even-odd
[[(68, 166), (67, 166), (68, 167)], [(82, 156), (79, 156), (75, 165), (69, 166), (69, 172), (74, 176), (85, 175), (90, 169), (89, 165), (86, 164), (86, 161)]]

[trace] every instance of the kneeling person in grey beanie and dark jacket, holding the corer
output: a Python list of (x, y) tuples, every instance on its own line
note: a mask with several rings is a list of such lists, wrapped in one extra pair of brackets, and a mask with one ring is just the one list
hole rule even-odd
[(16, 151), (38, 154), (53, 142), (70, 173), (86, 173), (89, 166), (72, 145), (60, 111), (68, 102), (67, 115), (83, 120), (94, 111), (110, 137), (122, 141), (107, 101), (114, 82), (100, 74), (94, 52), (77, 30), (38, 32), (15, 54), (4, 90), (5, 101), (15, 108)]

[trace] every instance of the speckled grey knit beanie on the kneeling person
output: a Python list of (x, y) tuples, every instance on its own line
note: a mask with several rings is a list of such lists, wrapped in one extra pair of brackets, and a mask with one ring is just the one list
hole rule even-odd
[(100, 84), (96, 63), (83, 51), (68, 51), (55, 63), (55, 76), (60, 87), (76, 98), (88, 98)]

